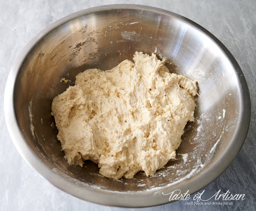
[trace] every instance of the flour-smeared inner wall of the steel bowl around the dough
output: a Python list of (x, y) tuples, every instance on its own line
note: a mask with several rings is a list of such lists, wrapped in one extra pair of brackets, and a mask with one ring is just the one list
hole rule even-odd
[[(166, 58), (171, 72), (198, 81), (196, 120), (189, 122), (170, 161), (154, 176), (109, 179), (97, 164), (70, 166), (63, 158), (51, 116), (52, 99), (74, 85), (88, 68), (111, 69), (135, 51)], [(71, 82), (60, 83), (65, 77)], [(196, 177), (225, 153), (238, 127), (239, 80), (221, 48), (185, 18), (141, 9), (108, 9), (79, 14), (44, 35), (31, 49), (16, 77), (14, 105), (29, 147), (52, 171), (79, 186), (107, 191), (144, 191), (181, 184)], [(31, 115), (29, 115), (31, 114)], [(32, 125), (32, 126), (31, 126)]]

